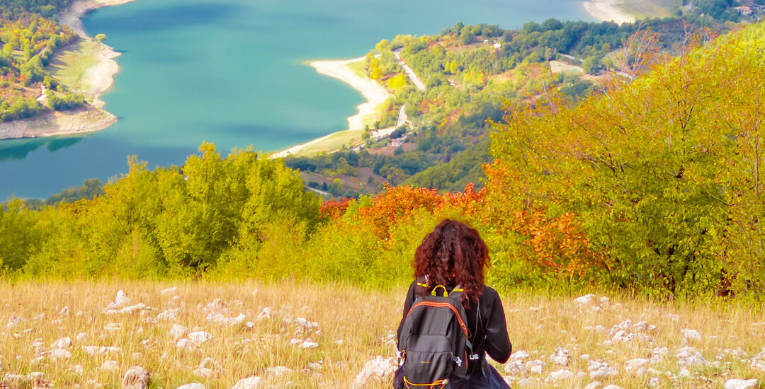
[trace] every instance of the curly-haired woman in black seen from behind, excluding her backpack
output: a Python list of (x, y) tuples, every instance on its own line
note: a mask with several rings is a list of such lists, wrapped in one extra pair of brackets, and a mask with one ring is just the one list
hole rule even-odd
[[(467, 380), (452, 374), (455, 388), (509, 388), (499, 372), (486, 361), (505, 363), (513, 351), (507, 335), (505, 312), (496, 290), (483, 284), (483, 268), (489, 263), (489, 250), (475, 229), (451, 219), (439, 224), (425, 236), (415, 252), (415, 281), (409, 286), (404, 302), (402, 325), (417, 296), (430, 294), (436, 285), (448, 291), (460, 285), (461, 303), (467, 313), (468, 339), (473, 345), (467, 365)], [(401, 374), (396, 374), (396, 381)]]

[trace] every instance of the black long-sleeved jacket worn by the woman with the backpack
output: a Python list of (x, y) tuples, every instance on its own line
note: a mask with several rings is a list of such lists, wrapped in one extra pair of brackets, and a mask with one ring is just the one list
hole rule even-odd
[[(404, 324), (406, 314), (415, 302), (417, 295), (415, 289), (416, 281), (409, 285), (409, 291), (404, 300), (404, 313), (396, 335), (401, 338), (401, 328)], [(451, 291), (451, 290), (450, 290)], [(513, 352), (513, 345), (510, 344), (507, 335), (507, 324), (505, 321), (505, 310), (500, 301), (500, 295), (486, 285), (483, 286), (478, 303), (471, 302), (470, 310), (465, 310), (467, 314), (467, 330), (470, 333), (470, 342), (473, 344), (473, 352), (479, 355), (477, 361), (468, 362), (468, 373), (470, 375), (480, 374), (483, 376), (480, 366), (485, 364), (486, 354), (493, 360), (505, 363)]]

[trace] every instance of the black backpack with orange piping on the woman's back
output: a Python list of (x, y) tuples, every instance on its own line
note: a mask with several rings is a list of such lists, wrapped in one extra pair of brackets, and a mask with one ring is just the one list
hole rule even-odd
[(412, 303), (399, 336), (400, 387), (440, 389), (447, 387), (452, 373), (467, 377), (467, 349), (472, 346), (462, 292), (460, 286), (448, 293), (438, 285), (430, 296), (418, 296)]

